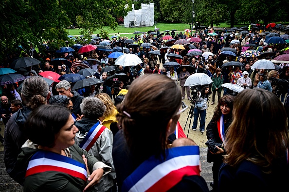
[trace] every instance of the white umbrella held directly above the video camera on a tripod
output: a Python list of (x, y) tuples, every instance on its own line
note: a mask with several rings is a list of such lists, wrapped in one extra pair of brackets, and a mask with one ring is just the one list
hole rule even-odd
[(184, 86), (197, 86), (197, 85), (208, 85), (213, 80), (205, 74), (205, 73), (194, 73), (193, 75), (190, 75), (188, 79), (185, 81)]

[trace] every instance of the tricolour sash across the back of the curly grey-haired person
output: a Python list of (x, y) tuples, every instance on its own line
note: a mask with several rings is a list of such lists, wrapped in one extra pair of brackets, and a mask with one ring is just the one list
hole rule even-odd
[(81, 144), (79, 144), (79, 147), (89, 151), (105, 128), (105, 126), (102, 126), (99, 122), (97, 122), (92, 128), (90, 128), (90, 131), (82, 140)]

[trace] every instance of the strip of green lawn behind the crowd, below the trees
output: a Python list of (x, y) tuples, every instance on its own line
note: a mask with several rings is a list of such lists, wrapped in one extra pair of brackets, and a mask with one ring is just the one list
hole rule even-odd
[[(160, 32), (163, 32), (165, 30), (177, 30), (178, 32), (184, 32), (184, 29), (190, 28), (190, 25), (188, 24), (183, 24), (183, 23), (157, 23), (156, 25), (157, 28), (160, 28)], [(105, 27), (105, 30), (108, 32), (108, 34), (114, 35), (116, 33), (127, 33), (131, 34), (135, 31), (140, 31), (140, 32), (148, 32), (150, 30), (154, 30), (155, 26), (151, 27), (134, 27), (134, 28), (127, 28), (124, 26), (118, 26), (117, 29), (115, 30), (110, 30), (107, 27)], [(66, 30), (69, 35), (80, 35), (81, 29), (74, 29), (74, 30)], [(100, 31), (95, 31), (93, 34), (98, 34)]]

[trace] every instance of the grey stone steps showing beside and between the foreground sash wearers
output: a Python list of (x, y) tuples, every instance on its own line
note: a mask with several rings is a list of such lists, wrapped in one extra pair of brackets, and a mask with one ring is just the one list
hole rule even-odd
[[(207, 162), (207, 147), (200, 147), (201, 176), (206, 180), (209, 190), (213, 181), (212, 163)], [(3, 151), (0, 151), (0, 192), (23, 192), (23, 187), (6, 172)]]

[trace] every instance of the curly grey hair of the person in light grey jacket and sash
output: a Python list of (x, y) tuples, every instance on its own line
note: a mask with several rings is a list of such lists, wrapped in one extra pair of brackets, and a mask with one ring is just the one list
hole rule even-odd
[(80, 110), (84, 117), (98, 119), (103, 116), (106, 106), (99, 98), (88, 96), (82, 100)]

